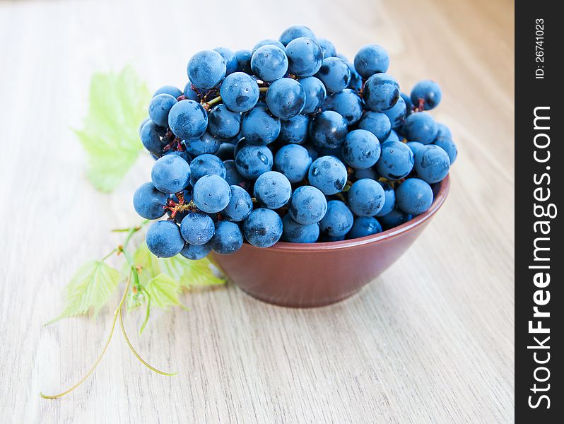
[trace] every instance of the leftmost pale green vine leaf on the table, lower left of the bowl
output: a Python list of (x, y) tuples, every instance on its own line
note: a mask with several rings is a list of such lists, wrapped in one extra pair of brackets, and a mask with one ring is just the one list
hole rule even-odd
[(119, 271), (103, 261), (89, 261), (83, 264), (66, 286), (63, 312), (47, 324), (61, 318), (88, 314), (90, 308), (94, 309), (96, 316), (121, 280)]

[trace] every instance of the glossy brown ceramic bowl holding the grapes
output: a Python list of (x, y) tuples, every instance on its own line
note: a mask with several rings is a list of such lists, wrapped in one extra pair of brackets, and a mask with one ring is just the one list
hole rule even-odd
[(342, 242), (278, 242), (267, 249), (245, 242), (227, 256), (213, 254), (228, 279), (254, 298), (287, 307), (331, 305), (358, 292), (411, 246), (445, 201), (449, 177), (434, 184), (429, 210), (396, 228)]

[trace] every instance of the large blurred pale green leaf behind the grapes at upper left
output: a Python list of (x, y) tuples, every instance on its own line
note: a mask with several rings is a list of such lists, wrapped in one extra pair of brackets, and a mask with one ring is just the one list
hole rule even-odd
[(131, 66), (92, 76), (88, 115), (75, 133), (88, 154), (88, 179), (102, 192), (117, 187), (142, 150), (138, 129), (149, 98)]

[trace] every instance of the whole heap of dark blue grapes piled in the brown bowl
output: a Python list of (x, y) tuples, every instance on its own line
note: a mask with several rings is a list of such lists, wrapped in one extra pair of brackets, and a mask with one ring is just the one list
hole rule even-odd
[(133, 200), (157, 220), (148, 249), (201, 259), (245, 242), (336, 242), (425, 213), (457, 147), (428, 112), (440, 86), (406, 95), (388, 67), (380, 45), (351, 62), (302, 25), (194, 54), (184, 90), (157, 90), (139, 130), (155, 158)]

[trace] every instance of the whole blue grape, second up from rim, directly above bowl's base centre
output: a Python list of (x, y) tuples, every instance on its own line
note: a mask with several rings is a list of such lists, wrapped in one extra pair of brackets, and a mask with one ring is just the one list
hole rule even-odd
[(302, 225), (318, 223), (327, 212), (327, 199), (321, 190), (312, 186), (301, 186), (294, 190), (288, 204), (288, 213)]

